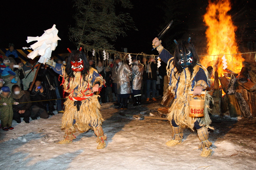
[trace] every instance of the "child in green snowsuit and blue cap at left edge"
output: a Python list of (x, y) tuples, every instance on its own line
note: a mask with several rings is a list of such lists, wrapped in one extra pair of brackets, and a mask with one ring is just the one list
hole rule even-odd
[[(1, 127), (4, 131), (13, 130), (12, 127), (12, 117), (13, 117), (13, 111), (12, 111), (12, 104), (15, 105), (19, 104), (18, 102), (15, 102), (15, 100), (10, 95), (10, 88), (7, 86), (3, 86), (1, 88), (2, 94), (0, 94), (0, 111), (1, 111)], [(7, 105), (8, 104), (8, 105)]]

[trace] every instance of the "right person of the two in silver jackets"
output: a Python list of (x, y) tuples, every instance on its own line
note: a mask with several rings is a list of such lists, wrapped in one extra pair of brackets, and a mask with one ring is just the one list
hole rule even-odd
[(142, 75), (144, 72), (144, 66), (140, 64), (140, 58), (134, 56), (132, 70), (132, 94), (134, 95), (134, 106), (141, 105), (140, 89), (142, 85)]

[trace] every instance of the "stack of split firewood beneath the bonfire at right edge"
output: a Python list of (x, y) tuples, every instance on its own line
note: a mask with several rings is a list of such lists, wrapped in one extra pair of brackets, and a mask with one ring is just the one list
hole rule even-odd
[[(255, 70), (244, 66), (239, 74), (227, 70), (219, 77), (224, 95), (220, 98), (220, 113), (229, 111), (230, 117), (256, 117), (256, 77)], [(215, 84), (217, 79), (215, 78)], [(219, 81), (217, 81), (219, 83)], [(215, 96), (213, 96), (215, 98)], [(216, 103), (217, 104), (217, 103)], [(215, 104), (214, 104), (214, 107)], [(213, 110), (214, 111), (214, 110)]]

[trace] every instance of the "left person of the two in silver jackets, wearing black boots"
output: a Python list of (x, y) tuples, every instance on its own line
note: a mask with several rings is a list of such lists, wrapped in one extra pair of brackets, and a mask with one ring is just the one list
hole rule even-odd
[(117, 94), (120, 98), (120, 104), (115, 109), (127, 109), (128, 99), (131, 94), (130, 81), (132, 76), (131, 68), (121, 61), (120, 58), (115, 59), (116, 63), (116, 79), (117, 79)]

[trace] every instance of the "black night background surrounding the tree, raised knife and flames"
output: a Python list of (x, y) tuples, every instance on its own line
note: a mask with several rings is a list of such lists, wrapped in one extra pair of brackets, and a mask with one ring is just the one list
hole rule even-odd
[[(172, 28), (162, 39), (165, 42), (164, 46), (172, 52), (174, 38), (179, 40), (191, 36), (198, 53), (205, 53), (206, 39), (204, 33), (206, 27), (202, 16), (206, 12), (208, 1), (181, 0), (180, 3), (176, 4), (172, 4), (172, 2), (131, 0), (134, 8), (117, 7), (117, 13), (130, 13), (138, 31), (128, 30), (126, 37), (118, 37), (116, 42), (113, 42), (115, 49), (121, 51), (123, 47), (128, 48), (129, 53), (157, 54), (156, 50), (151, 51), (151, 42), (166, 23), (173, 19)], [(168, 3), (169, 5), (167, 5)], [(68, 28), (75, 26), (73, 4), (74, 1), (68, 0), (1, 2), (0, 47), (8, 48), (9, 43), (13, 43), (16, 49), (29, 47), (34, 42), (27, 44), (27, 36), (41, 36), (44, 33), (43, 30), (56, 24), (61, 41), (58, 41), (58, 47), (54, 53), (67, 53), (68, 47), (75, 49), (75, 45), (68, 37)], [(231, 0), (231, 4), (230, 14), (234, 24), (238, 26), (236, 35), (241, 52), (256, 50), (256, 12), (254, 9), (256, 1)]]

